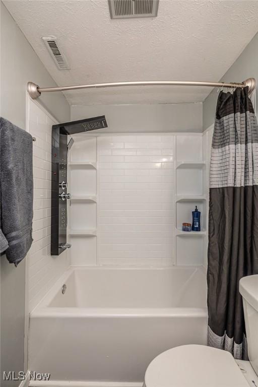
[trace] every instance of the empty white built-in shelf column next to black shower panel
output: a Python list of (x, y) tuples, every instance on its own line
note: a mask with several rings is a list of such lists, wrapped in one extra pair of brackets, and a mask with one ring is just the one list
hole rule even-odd
[(72, 265), (96, 265), (97, 153), (96, 138), (73, 136), (70, 152), (69, 229)]

